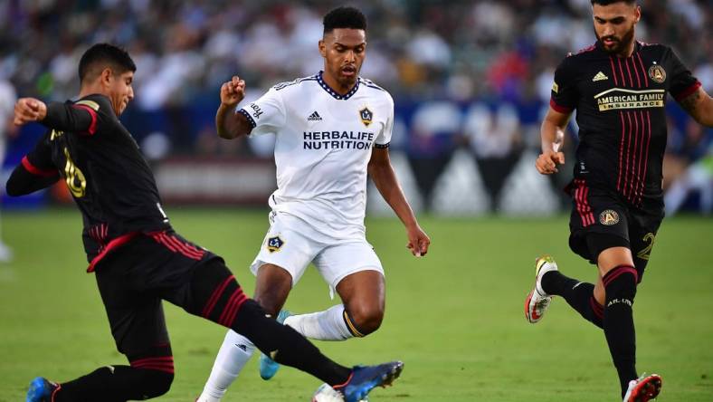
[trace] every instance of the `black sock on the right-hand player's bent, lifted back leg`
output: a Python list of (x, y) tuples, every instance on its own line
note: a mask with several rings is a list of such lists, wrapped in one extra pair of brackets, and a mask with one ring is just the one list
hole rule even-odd
[(542, 275), (540, 284), (547, 294), (562, 296), (586, 321), (604, 328), (602, 323), (604, 307), (594, 299), (594, 284), (568, 278), (559, 271), (550, 271)]

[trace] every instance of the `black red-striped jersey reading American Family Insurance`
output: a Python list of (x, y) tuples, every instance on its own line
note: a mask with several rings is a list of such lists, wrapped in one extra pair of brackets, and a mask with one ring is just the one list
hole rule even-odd
[(699, 86), (661, 44), (637, 42), (627, 58), (598, 42), (568, 55), (556, 69), (550, 106), (576, 110), (575, 178), (615, 189), (632, 206), (661, 205), (667, 93), (680, 101)]

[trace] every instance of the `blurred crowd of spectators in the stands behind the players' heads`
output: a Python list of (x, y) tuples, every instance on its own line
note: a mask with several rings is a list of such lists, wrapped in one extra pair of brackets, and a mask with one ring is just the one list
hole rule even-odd
[[(396, 97), (547, 101), (556, 63), (594, 43), (589, 0), (353, 2), (368, 17), (362, 75)], [(643, 2), (639, 38), (670, 43), (713, 86), (713, 6)], [(321, 66), (321, 16), (337, 2), (5, 0), (0, 76), (24, 94), (65, 99), (90, 43), (125, 46), (138, 64), (138, 106), (191, 102), (233, 73), (251, 88)]]

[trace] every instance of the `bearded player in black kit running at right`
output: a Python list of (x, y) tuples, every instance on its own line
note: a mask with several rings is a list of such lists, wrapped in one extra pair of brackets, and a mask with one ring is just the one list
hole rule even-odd
[(661, 377), (639, 377), (632, 304), (663, 218), (661, 165), (666, 147), (666, 94), (691, 117), (713, 125), (713, 100), (668, 46), (634, 40), (641, 7), (633, 0), (592, 0), (597, 42), (568, 55), (555, 72), (542, 154), (536, 167), (556, 173), (565, 162), (563, 130), (574, 110), (579, 126), (570, 248), (598, 267), (595, 283), (559, 273), (550, 256), (537, 259), (528, 321), (542, 318), (562, 296), (604, 329), (623, 400), (656, 397)]

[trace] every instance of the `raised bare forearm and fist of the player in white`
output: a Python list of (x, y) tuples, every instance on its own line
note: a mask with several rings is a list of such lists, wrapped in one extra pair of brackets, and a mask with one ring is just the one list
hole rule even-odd
[(235, 139), (250, 134), (252, 126), (241, 113), (235, 112), (242, 99), (245, 98), (245, 81), (233, 76), (231, 81), (221, 86), (221, 105), (215, 113), (215, 129), (222, 139)]

